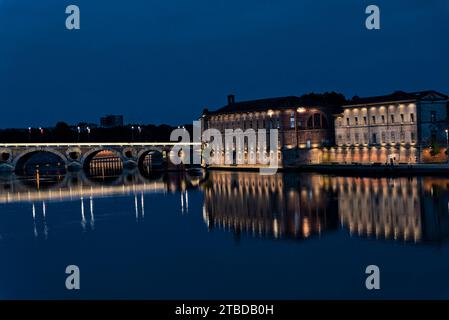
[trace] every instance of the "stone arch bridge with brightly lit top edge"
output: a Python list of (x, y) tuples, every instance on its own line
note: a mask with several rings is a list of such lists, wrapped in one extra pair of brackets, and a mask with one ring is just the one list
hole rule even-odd
[(121, 159), (124, 166), (135, 167), (150, 153), (159, 153), (168, 161), (173, 147), (187, 148), (199, 143), (141, 142), (141, 143), (13, 143), (0, 144), (0, 171), (15, 171), (36, 153), (57, 156), (68, 169), (86, 168), (100, 152), (110, 151)]

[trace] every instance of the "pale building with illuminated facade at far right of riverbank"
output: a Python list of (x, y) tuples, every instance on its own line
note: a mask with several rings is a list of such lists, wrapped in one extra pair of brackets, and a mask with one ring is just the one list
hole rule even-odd
[(355, 97), (335, 117), (338, 163), (447, 162), (448, 97), (435, 91)]

